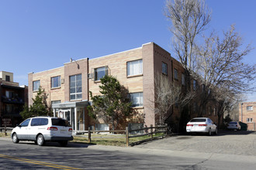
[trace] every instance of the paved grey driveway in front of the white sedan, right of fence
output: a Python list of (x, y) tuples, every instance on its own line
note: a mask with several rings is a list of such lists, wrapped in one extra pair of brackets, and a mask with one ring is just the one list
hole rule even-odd
[(256, 132), (219, 131), (217, 135), (213, 136), (205, 134), (178, 135), (134, 147), (256, 156)]

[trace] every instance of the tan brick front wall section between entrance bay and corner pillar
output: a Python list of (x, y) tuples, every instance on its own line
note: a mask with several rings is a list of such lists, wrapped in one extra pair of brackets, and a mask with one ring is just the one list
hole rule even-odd
[[(131, 49), (121, 53), (115, 53), (108, 56), (102, 56), (95, 59), (89, 59), (89, 73), (94, 73), (94, 69), (108, 66), (109, 75), (115, 76), (119, 82), (129, 90), (129, 93), (143, 92), (143, 79), (144, 76), (127, 77), (126, 63), (129, 61), (142, 59), (141, 48)], [(92, 95), (99, 95), (99, 81), (94, 79), (88, 80), (89, 90), (92, 91)], [(143, 108), (134, 108), (141, 115)], [(143, 122), (142, 122), (143, 123)]]

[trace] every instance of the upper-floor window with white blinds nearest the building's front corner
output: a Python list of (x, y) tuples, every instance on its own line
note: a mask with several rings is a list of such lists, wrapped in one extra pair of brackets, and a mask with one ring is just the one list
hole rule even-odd
[(127, 62), (127, 76), (136, 76), (143, 73), (142, 59)]

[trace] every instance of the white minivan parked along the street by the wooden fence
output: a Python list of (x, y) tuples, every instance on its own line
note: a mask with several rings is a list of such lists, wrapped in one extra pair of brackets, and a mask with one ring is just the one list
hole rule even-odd
[(44, 145), (46, 141), (57, 141), (66, 146), (72, 141), (72, 128), (67, 120), (57, 117), (31, 117), (12, 130), (12, 141), (35, 141)]

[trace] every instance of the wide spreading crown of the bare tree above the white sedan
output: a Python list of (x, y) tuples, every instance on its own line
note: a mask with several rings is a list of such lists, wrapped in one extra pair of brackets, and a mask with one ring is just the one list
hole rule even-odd
[(250, 44), (243, 46), (242, 37), (235, 32), (234, 26), (223, 32), (223, 39), (213, 32), (202, 46), (196, 46), (194, 76), (210, 90), (210, 93), (203, 93), (201, 107), (214, 99), (220, 103), (222, 116), (225, 108), (233, 103), (231, 100), (237, 100), (238, 94), (254, 90), (250, 82), (255, 80), (256, 65), (243, 62), (252, 48)]

